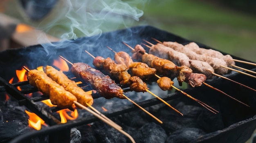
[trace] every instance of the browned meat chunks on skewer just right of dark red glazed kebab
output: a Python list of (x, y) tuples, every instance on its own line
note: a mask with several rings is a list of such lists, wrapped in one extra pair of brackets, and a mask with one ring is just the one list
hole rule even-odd
[(103, 58), (97, 56), (93, 60), (93, 65), (97, 68), (103, 68), (111, 76), (118, 78), (121, 85), (129, 85), (132, 91), (136, 92), (146, 92), (148, 89), (145, 82), (141, 80), (138, 76), (131, 76), (127, 72), (126, 65), (121, 65), (115, 63), (111, 58)]

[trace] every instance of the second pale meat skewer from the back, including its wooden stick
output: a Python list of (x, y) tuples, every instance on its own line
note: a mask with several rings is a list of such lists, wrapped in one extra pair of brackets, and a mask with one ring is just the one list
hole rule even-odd
[[(144, 41), (146, 43), (150, 44), (151, 46), (154, 46), (153, 43), (150, 43), (146, 40), (144, 40)], [(247, 76), (256, 78), (256, 76), (253, 76), (251, 74), (247, 74), (245, 72), (241, 72), (236, 69), (230, 68), (232, 65), (235, 65), (235, 62), (232, 60), (233, 58), (230, 55), (224, 56), (220, 52), (218, 52), (218, 54), (216, 54), (216, 52), (213, 53), (213, 50), (211, 50), (211, 49), (210, 49), (211, 51), (208, 51), (208, 50), (205, 51), (206, 49), (199, 48), (199, 46), (194, 42), (191, 42), (187, 45), (182, 45), (177, 42), (171, 42), (171, 41), (166, 42), (165, 41), (165, 42), (161, 42), (159, 44), (162, 44), (166, 47), (172, 48), (173, 50), (176, 50), (178, 52), (182, 52), (182, 53), (186, 54), (192, 60), (200, 60), (200, 61), (205, 61), (205, 62), (209, 63), (213, 67), (216, 74), (220, 74), (220, 75), (227, 74), (228, 69), (229, 69), (229, 70), (239, 72), (240, 74), (245, 74)], [(199, 51), (200, 53), (202, 53), (201, 52), (202, 50), (200, 50), (200, 49), (204, 49), (204, 52), (207, 52), (208, 54), (198, 54), (197, 52), (194, 52), (194, 51)], [(210, 53), (213, 53), (214, 55), (210, 54)], [(225, 69), (223, 69), (223, 68), (225, 68)]]

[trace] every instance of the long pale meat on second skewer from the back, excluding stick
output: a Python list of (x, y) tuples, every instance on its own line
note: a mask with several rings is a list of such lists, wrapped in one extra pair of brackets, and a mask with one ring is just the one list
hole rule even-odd
[[(161, 45), (160, 43), (157, 43), (157, 45)], [(221, 65), (226, 66), (227, 67), (227, 63), (220, 58), (215, 58), (215, 57), (211, 57), (211, 56), (207, 56), (207, 55), (202, 55), (202, 54), (197, 54), (195, 52), (193, 52), (192, 50), (190, 50), (189, 48), (186, 48), (184, 45), (177, 43), (177, 42), (163, 42), (162, 45), (169, 47), (169, 48), (173, 48), (174, 50), (178, 51), (178, 52), (182, 52), (184, 54), (186, 54), (189, 59), (191, 60), (198, 60), (198, 61), (204, 61), (209, 63), (209, 65), (211, 65), (214, 69), (214, 72), (216, 74), (227, 74), (228, 69), (221, 67)]]

